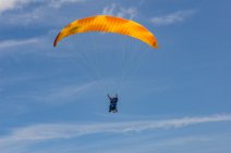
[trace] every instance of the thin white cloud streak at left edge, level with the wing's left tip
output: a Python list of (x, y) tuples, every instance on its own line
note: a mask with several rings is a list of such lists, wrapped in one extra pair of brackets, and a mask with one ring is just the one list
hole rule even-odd
[(36, 43), (39, 40), (36, 39), (36, 38), (24, 39), (24, 40), (4, 40), (4, 41), (0, 41), (0, 49), (16, 47), (16, 46), (23, 46), (23, 44), (29, 44), (29, 43)]

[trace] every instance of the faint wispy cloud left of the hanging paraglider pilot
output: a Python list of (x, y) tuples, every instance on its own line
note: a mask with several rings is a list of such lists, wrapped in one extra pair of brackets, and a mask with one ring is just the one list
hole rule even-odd
[[(28, 79), (36, 79), (36, 76), (33, 77)], [(45, 85), (41, 85), (34, 90), (15, 93), (11, 95), (11, 99), (16, 99), (17, 101), (28, 99), (46, 104), (60, 105), (76, 100), (84, 91), (93, 89), (94, 86), (97, 86), (95, 81), (83, 85), (59, 85), (56, 87), (49, 87), (49, 84), (46, 84), (46, 88)]]

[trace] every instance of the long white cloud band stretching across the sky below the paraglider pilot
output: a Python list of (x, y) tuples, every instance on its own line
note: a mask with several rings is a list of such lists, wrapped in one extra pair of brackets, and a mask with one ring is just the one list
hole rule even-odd
[(205, 117), (183, 117), (167, 120), (142, 120), (124, 123), (97, 123), (97, 124), (45, 124), (19, 128), (9, 136), (0, 139), (0, 145), (8, 140), (28, 141), (28, 140), (49, 140), (68, 139), (93, 133), (126, 133), (142, 132), (155, 129), (182, 128), (191, 125), (231, 122), (231, 114), (211, 115)]

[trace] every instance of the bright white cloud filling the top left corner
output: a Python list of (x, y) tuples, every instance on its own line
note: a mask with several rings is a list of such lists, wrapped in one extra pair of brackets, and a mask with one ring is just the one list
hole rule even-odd
[(28, 3), (29, 0), (1, 0), (0, 1), (0, 13), (7, 10), (12, 10)]

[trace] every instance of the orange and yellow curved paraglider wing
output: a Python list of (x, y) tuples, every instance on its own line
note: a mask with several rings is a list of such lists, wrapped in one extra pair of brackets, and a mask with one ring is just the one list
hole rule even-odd
[(87, 31), (115, 33), (139, 39), (153, 48), (158, 46), (155, 36), (141, 24), (109, 15), (96, 15), (72, 22), (58, 34), (53, 46), (70, 35)]

